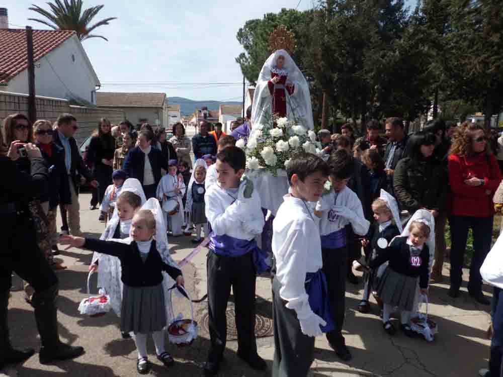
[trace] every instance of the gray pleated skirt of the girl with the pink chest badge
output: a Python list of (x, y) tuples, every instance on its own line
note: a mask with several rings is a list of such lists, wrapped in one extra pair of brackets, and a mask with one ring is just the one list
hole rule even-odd
[(393, 271), (389, 266), (384, 270), (377, 292), (385, 304), (397, 306), (399, 310), (411, 311), (417, 290), (418, 277), (410, 277)]

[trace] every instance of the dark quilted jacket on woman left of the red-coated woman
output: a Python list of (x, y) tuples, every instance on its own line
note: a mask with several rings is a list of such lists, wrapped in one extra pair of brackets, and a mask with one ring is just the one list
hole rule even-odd
[(395, 198), (400, 208), (413, 214), (421, 208), (443, 211), (447, 201), (447, 177), (433, 158), (415, 162), (405, 157), (393, 177)]

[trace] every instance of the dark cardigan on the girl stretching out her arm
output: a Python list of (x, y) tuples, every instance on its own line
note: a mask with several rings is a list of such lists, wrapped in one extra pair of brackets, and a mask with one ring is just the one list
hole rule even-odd
[(125, 244), (115, 241), (102, 241), (86, 238), (84, 247), (89, 250), (113, 255), (120, 259), (122, 267), (122, 282), (128, 287), (155, 287), (162, 282), (162, 271), (167, 272), (173, 279), (182, 271), (162, 261), (162, 258), (152, 241), (147, 259), (143, 262), (136, 242)]

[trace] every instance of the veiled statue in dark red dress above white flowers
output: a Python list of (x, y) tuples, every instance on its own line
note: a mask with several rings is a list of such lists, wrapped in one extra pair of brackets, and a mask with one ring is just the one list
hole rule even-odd
[(312, 130), (309, 84), (285, 50), (277, 50), (264, 63), (255, 87), (251, 125), (268, 124), (273, 117), (296, 121)]

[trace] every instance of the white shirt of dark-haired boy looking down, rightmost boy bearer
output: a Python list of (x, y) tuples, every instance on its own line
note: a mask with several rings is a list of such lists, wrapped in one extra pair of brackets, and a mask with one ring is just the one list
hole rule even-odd
[(320, 235), (326, 236), (351, 224), (353, 231), (364, 236), (369, 231), (370, 223), (363, 214), (362, 203), (349, 187), (336, 193), (332, 189), (316, 203), (316, 211), (321, 212), (319, 221)]

